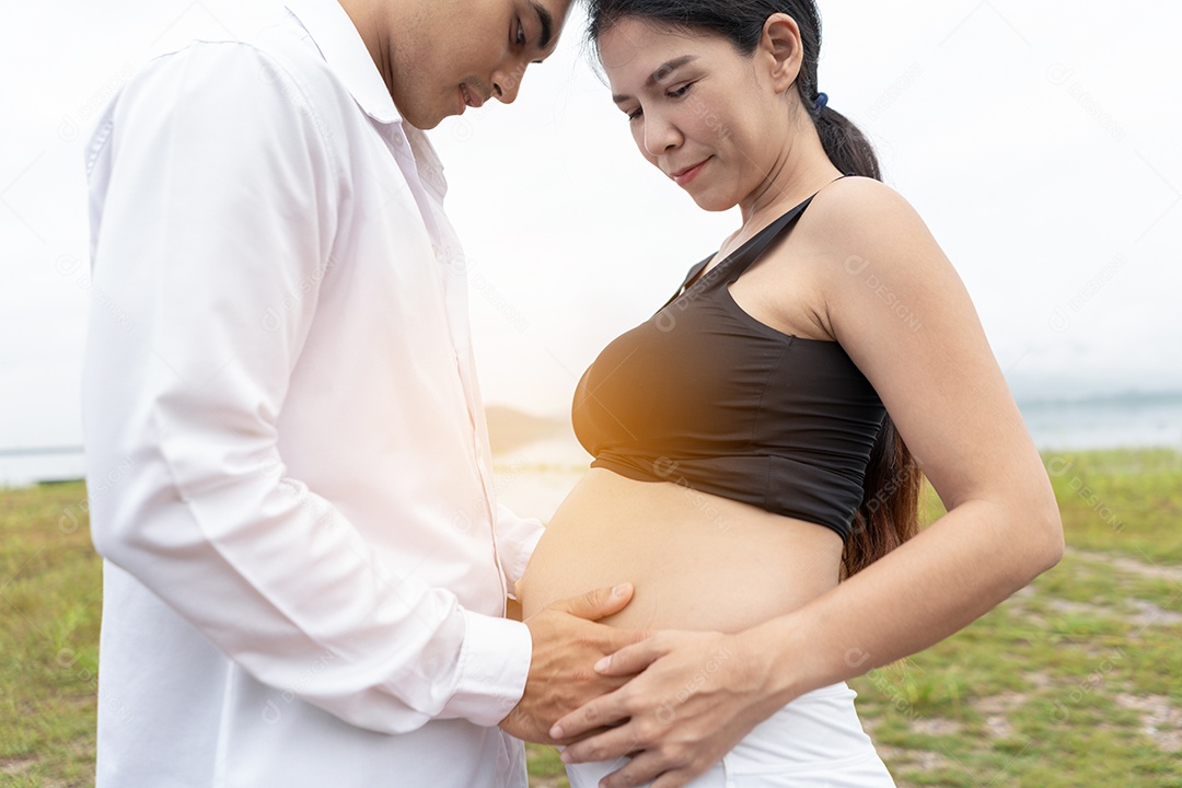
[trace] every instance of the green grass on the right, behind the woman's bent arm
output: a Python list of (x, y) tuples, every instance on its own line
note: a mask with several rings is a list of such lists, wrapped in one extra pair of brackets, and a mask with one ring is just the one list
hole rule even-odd
[(1182, 786), (1182, 456), (1044, 461), (1067, 536), (1059, 566), (850, 682), (901, 786)]

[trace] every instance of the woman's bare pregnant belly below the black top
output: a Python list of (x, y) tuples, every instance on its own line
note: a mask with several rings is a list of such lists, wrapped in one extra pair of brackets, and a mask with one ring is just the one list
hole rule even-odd
[(605, 624), (736, 632), (837, 585), (840, 538), (669, 482), (592, 468), (554, 513), (518, 582), (526, 617), (592, 588), (631, 582)]

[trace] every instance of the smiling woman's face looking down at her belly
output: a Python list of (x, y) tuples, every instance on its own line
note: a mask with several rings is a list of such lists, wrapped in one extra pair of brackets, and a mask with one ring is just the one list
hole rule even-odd
[(625, 18), (599, 54), (641, 154), (706, 210), (745, 202), (782, 163), (790, 103), (761, 50)]

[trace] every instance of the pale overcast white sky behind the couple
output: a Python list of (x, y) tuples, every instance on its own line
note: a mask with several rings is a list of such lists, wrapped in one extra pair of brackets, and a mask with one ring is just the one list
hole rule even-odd
[[(1182, 390), (1182, 4), (1116, 7), (820, 2), (821, 90), (956, 266), (1020, 398)], [(87, 278), (90, 124), (152, 56), (249, 38), (280, 8), (0, 8), (0, 449), (80, 443), (86, 311), (104, 308)], [(485, 399), (545, 415), (739, 226), (641, 158), (580, 28), (576, 13), (515, 104), (431, 132), (473, 261)]]

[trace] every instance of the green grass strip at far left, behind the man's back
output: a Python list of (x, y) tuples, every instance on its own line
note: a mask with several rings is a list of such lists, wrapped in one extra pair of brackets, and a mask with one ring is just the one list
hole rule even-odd
[(102, 572), (82, 483), (0, 494), (0, 784), (91, 786)]

